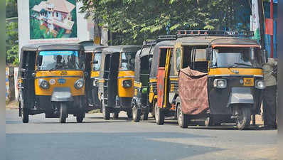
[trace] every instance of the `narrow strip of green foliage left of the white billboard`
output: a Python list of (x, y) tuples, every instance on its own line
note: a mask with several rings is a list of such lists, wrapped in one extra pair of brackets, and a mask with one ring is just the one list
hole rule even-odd
[(6, 63), (18, 65), (18, 23), (6, 22)]

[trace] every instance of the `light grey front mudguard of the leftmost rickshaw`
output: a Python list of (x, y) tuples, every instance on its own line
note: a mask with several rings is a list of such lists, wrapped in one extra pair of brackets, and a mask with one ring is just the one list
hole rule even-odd
[(73, 101), (70, 87), (54, 87), (51, 95), (51, 101), (66, 102)]

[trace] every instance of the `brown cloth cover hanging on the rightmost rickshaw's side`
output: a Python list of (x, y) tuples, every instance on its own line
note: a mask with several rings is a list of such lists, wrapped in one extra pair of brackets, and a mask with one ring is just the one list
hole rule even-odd
[(191, 68), (179, 73), (178, 93), (184, 114), (201, 114), (208, 110), (208, 74)]

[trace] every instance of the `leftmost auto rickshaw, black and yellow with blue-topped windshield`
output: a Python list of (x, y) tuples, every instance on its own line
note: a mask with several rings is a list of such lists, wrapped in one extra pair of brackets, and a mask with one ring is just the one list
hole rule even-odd
[(68, 114), (77, 122), (85, 117), (85, 53), (75, 43), (40, 43), (23, 46), (18, 70), (19, 116), (45, 113), (46, 118)]

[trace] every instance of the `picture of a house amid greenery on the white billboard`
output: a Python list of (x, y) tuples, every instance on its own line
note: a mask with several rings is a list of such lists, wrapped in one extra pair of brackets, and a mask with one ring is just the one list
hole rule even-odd
[(30, 39), (77, 38), (75, 0), (29, 0)]

